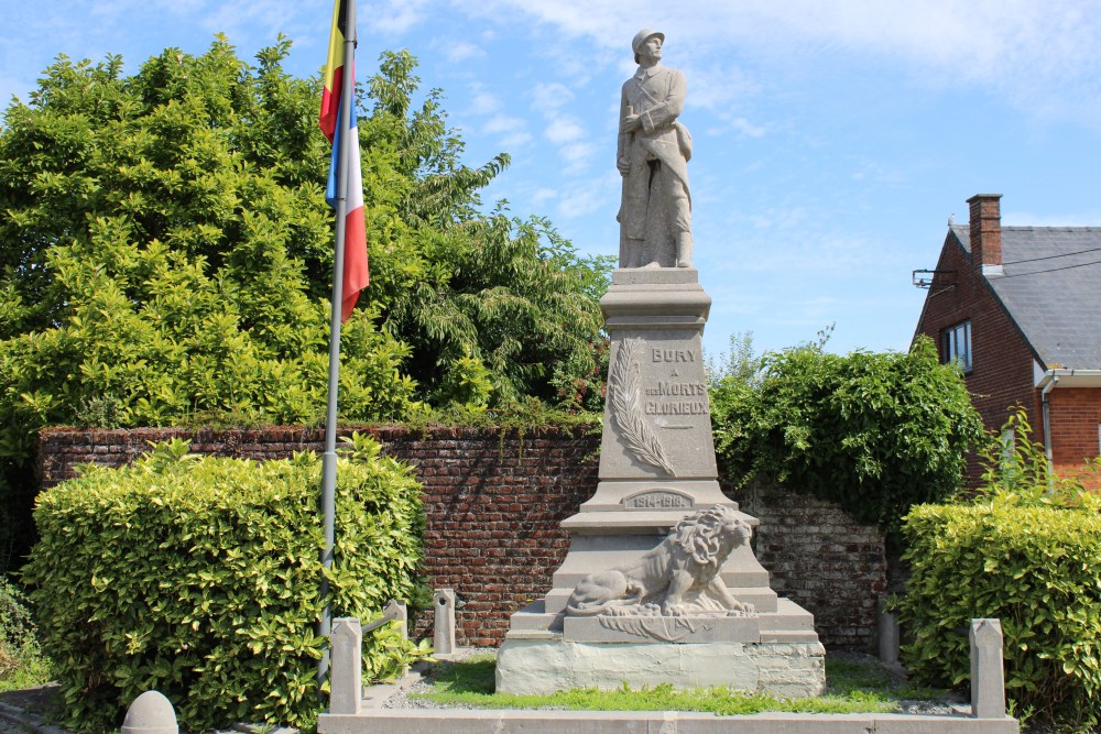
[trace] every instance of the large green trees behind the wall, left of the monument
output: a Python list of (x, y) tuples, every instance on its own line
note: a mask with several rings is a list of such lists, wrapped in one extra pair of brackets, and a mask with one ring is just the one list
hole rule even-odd
[[(127, 76), (65, 57), (0, 127), (0, 462), (47, 425), (314, 423), (333, 212), (319, 83), (285, 39), (218, 37)], [(340, 414), (525, 398), (592, 407), (608, 262), (543, 219), (480, 213), (508, 165), (461, 162), (442, 94), (384, 54), (360, 90), (371, 286), (341, 336)], [(21, 469), (23, 467), (24, 469)], [(2, 481), (2, 480), (0, 480)], [(2, 490), (2, 486), (0, 486)]]

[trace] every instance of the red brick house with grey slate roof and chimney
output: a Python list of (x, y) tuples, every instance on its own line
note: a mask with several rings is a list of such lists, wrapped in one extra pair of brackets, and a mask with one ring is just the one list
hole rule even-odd
[(1101, 228), (1002, 227), (1000, 199), (973, 196), (970, 223), (949, 220), (915, 336), (959, 361), (989, 430), (1024, 406), (1069, 475), (1101, 453)]

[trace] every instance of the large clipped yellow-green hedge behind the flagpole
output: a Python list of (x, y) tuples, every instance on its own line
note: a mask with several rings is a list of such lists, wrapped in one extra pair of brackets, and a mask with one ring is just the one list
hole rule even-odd
[[(338, 462), (334, 614), (379, 616), (418, 593), (424, 514), (410, 470), (355, 437)], [(235, 722), (309, 725), (321, 640), (320, 462), (197, 458), (159, 445), (123, 469), (88, 465), (44, 492), (35, 588), (67, 723), (110, 731), (156, 689), (192, 731)], [(423, 649), (364, 644), (366, 672)], [(373, 645), (371, 643), (374, 643)]]

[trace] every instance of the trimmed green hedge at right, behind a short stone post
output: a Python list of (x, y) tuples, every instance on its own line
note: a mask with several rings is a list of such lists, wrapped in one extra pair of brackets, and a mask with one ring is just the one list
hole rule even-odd
[(919, 682), (970, 677), (968, 628), (1002, 621), (1015, 711), (1084, 728), (1101, 710), (1101, 516), (989, 502), (922, 505), (906, 517), (913, 576), (900, 618)]

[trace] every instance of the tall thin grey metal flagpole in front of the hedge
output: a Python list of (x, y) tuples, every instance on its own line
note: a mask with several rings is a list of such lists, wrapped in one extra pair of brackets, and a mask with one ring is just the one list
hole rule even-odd
[[(340, 119), (337, 121), (340, 150), (337, 151), (337, 226), (336, 247), (333, 255), (333, 317), (329, 322), (329, 393), (325, 413), (325, 453), (321, 456), (321, 516), (325, 546), (321, 566), (333, 569), (333, 546), (336, 539), (337, 487), (337, 392), (340, 379), (340, 313), (344, 303), (345, 231), (348, 218), (348, 157), (351, 143), (351, 111), (356, 94), (356, 0), (345, 3), (344, 77), (340, 89)], [(329, 582), (321, 574), (320, 598), (324, 603), (317, 634), (325, 638), (321, 657), (317, 661), (317, 694), (329, 675), (329, 634), (333, 631), (333, 605), (329, 601)]]

